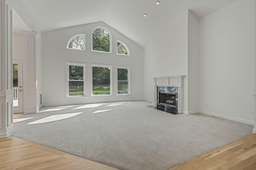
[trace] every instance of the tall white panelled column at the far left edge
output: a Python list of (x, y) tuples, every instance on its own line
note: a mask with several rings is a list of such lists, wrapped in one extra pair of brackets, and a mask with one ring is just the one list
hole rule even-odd
[(12, 98), (12, 5), (0, 0), (0, 138), (14, 131)]

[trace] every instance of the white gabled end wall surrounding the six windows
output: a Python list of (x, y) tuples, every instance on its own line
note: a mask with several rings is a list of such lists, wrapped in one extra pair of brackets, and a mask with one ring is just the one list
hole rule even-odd
[[(95, 27), (102, 26), (112, 35), (112, 53), (91, 51), (91, 34)], [(86, 34), (86, 50), (74, 51), (66, 49), (68, 40), (74, 35)], [(95, 102), (141, 100), (143, 98), (143, 49), (130, 39), (103, 22), (90, 23), (76, 27), (58, 29), (42, 33), (42, 73), (43, 73), (43, 105), (86, 104)], [(116, 54), (117, 40), (127, 45), (130, 57)], [(86, 63), (86, 96), (65, 97), (66, 63)], [(90, 64), (110, 64), (113, 66), (113, 87), (116, 88), (116, 66), (130, 67), (131, 95), (90, 96), (91, 66)]]

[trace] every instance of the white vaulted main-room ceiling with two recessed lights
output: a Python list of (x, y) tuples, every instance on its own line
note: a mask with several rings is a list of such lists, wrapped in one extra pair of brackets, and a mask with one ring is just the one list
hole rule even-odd
[(42, 32), (103, 21), (142, 47), (151, 43), (152, 31), (185, 10), (200, 19), (234, 1), (23, 0)]

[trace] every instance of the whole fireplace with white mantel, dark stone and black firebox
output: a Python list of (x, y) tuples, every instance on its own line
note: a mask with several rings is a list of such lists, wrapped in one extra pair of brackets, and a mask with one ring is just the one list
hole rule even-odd
[[(154, 96), (152, 105), (171, 110), (172, 114), (183, 113), (183, 78), (182, 76), (157, 77), (154, 80)], [(166, 111), (171, 113), (171, 111)]]

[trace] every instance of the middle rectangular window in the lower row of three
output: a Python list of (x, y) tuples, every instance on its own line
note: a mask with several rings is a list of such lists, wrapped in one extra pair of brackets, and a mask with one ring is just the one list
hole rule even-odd
[(92, 95), (111, 95), (112, 66), (92, 66)]

